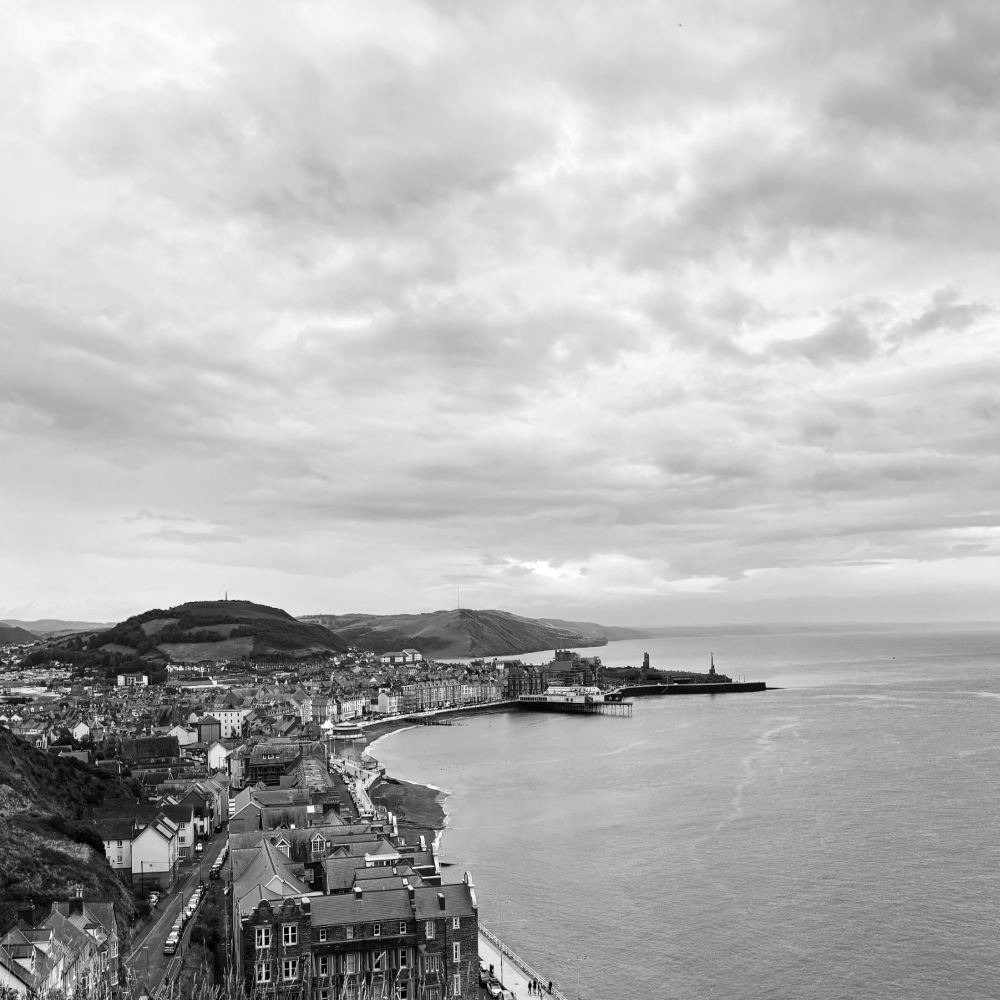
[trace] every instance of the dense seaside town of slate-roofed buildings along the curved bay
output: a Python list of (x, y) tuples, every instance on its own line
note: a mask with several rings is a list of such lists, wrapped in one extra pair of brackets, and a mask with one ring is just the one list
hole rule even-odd
[(26, 745), (120, 793), (70, 831), (118, 886), (19, 898), (0, 936), (6, 996), (562, 996), (479, 920), (472, 873), (443, 871), (437, 793), (363, 750), (403, 724), (596, 687), (598, 657), (349, 648), (98, 676), (33, 663), (38, 645), (0, 648), (0, 737), (24, 741), (13, 771), (41, 759), (23, 763)]

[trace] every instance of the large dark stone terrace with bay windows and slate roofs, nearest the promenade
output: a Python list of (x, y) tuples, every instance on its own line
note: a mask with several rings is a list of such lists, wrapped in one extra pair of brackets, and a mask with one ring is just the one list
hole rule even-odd
[(231, 832), (232, 960), (287, 1000), (479, 996), (478, 903), (383, 821)]

